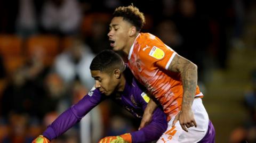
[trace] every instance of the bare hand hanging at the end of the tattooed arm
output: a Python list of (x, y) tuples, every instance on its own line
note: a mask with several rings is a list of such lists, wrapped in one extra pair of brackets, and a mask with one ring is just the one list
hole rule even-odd
[(174, 127), (178, 120), (180, 121), (181, 128), (186, 132), (188, 132), (187, 128), (193, 127), (194, 125), (197, 127), (196, 121), (194, 119), (194, 113), (191, 109), (185, 111), (181, 110), (178, 115), (175, 116), (175, 119), (172, 122), (172, 127)]

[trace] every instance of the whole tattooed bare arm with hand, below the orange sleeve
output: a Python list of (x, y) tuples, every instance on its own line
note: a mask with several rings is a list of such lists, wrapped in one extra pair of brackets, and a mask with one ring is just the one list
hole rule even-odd
[(183, 97), (181, 111), (175, 116), (172, 126), (179, 120), (183, 130), (196, 125), (194, 113), (191, 110), (197, 86), (197, 66), (186, 58), (175, 55), (168, 70), (178, 72), (181, 75), (183, 85)]

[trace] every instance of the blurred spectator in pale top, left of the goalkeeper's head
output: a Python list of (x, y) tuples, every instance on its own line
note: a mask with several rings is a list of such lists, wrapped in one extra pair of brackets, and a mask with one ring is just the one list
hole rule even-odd
[(93, 57), (90, 47), (75, 39), (66, 51), (56, 57), (54, 70), (67, 85), (78, 79), (88, 90), (94, 85), (89, 69)]

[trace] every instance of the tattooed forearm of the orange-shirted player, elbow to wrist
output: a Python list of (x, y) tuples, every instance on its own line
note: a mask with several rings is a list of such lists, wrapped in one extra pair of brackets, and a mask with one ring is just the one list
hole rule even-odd
[(197, 86), (197, 66), (190, 61), (181, 72), (183, 85), (182, 110), (191, 108)]

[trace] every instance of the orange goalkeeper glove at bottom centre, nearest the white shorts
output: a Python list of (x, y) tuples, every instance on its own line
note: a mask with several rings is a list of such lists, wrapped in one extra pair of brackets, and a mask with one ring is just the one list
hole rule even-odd
[(125, 133), (120, 136), (105, 137), (99, 143), (132, 143), (132, 136), (130, 133)]

